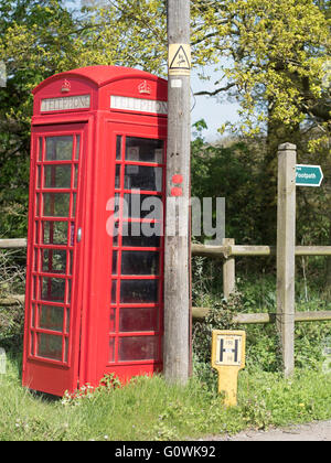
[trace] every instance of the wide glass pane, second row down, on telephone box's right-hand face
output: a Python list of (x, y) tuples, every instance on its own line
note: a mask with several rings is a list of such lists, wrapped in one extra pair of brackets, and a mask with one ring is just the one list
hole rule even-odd
[(162, 191), (162, 168), (126, 165), (125, 189)]

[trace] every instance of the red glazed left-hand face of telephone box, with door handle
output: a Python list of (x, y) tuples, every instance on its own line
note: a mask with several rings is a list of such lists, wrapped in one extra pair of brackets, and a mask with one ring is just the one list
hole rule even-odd
[(77, 388), (87, 125), (32, 129), (23, 385)]

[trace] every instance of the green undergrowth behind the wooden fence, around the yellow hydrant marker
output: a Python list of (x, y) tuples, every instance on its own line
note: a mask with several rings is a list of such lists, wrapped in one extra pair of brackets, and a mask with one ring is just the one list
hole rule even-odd
[[(194, 267), (193, 267), (194, 268)], [(214, 280), (217, 278), (214, 277)], [(215, 282), (213, 282), (215, 284)], [(307, 282), (306, 282), (307, 283)], [(193, 278), (193, 294), (195, 286), (200, 288), (200, 280)], [(330, 303), (321, 300), (318, 287), (313, 282), (308, 286), (308, 300), (302, 300), (302, 280), (296, 282), (296, 310), (319, 311), (330, 310)], [(210, 306), (209, 315), (193, 324), (194, 366), (199, 377), (215, 388), (215, 375), (210, 372), (212, 330), (234, 329), (231, 319), (235, 313), (276, 313), (276, 278), (270, 274), (241, 277), (237, 280), (239, 292), (228, 301), (216, 294), (203, 298), (201, 294), (194, 302), (196, 306)], [(197, 292), (203, 289), (199, 289)], [(211, 291), (211, 284), (204, 286)], [(245, 330), (246, 368), (249, 372), (263, 370), (269, 373), (281, 372), (281, 354), (276, 324), (236, 325)], [(295, 364), (297, 368), (321, 370), (323, 364), (323, 342), (330, 336), (331, 322), (296, 323), (295, 327)]]

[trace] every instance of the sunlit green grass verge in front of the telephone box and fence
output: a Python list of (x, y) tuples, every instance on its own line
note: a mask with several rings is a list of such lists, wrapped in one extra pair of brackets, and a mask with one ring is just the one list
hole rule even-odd
[(238, 406), (226, 409), (211, 372), (207, 383), (193, 377), (185, 387), (140, 377), (122, 388), (54, 399), (22, 388), (20, 362), (11, 357), (0, 375), (0, 440), (169, 441), (331, 418), (330, 374), (299, 369), (286, 380), (279, 373), (243, 370)]

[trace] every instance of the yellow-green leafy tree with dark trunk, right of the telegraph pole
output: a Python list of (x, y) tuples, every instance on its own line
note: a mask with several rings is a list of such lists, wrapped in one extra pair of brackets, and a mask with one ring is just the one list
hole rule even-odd
[[(136, 36), (148, 34), (149, 46), (152, 43), (158, 50), (158, 64), (162, 62), (160, 53), (166, 62), (166, 43), (160, 40), (159, 29), (162, 21), (150, 23), (146, 18), (149, 11), (162, 13), (164, 3), (107, 3), (122, 23), (130, 24)], [(330, 53), (328, 6), (329, 1), (313, 0), (192, 2), (193, 65), (202, 66), (203, 76), (203, 65), (213, 63), (218, 74), (214, 90), (202, 89), (196, 95), (217, 97), (220, 103), (236, 99), (242, 123), (228, 127), (244, 136), (264, 134), (266, 139), (264, 174), (257, 187), (261, 197), (259, 225), (267, 244), (276, 240), (277, 146), (292, 141), (301, 155), (302, 130), (310, 136), (311, 151), (329, 143), (330, 87), (324, 80)]]

